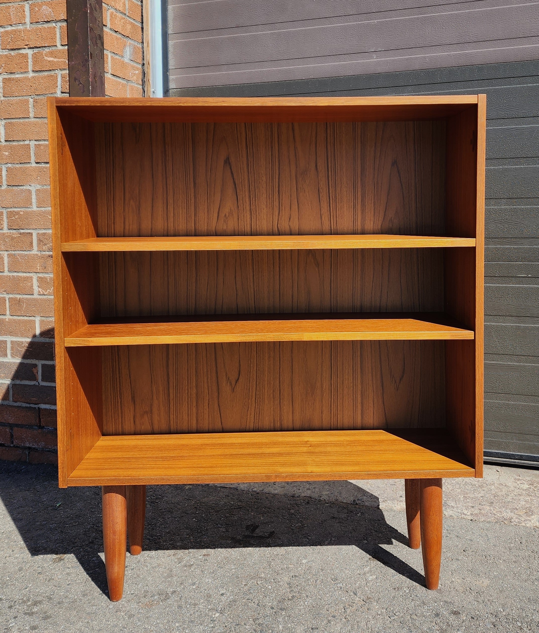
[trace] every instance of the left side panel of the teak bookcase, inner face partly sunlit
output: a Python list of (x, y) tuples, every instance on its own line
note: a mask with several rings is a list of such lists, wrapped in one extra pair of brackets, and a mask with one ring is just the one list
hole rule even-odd
[[(101, 436), (100, 351), (68, 351), (64, 336), (99, 311), (99, 261), (61, 253), (63, 240), (95, 237), (97, 211), (93, 124), (60, 116), (49, 101), (52, 250), (58, 405), (59, 484)], [(97, 382), (96, 379), (97, 378)]]

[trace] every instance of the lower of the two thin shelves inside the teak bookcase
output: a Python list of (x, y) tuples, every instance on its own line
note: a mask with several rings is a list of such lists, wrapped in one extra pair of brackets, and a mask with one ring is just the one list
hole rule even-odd
[(471, 330), (449, 322), (444, 315), (238, 315), (174, 322), (95, 323), (66, 336), (64, 344), (66, 347), (85, 347), (242, 341), (460, 340), (473, 337)]

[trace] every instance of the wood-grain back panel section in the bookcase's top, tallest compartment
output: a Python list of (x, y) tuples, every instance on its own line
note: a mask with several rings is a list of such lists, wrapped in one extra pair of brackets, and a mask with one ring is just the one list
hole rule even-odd
[(100, 237), (444, 233), (444, 120), (95, 130)]

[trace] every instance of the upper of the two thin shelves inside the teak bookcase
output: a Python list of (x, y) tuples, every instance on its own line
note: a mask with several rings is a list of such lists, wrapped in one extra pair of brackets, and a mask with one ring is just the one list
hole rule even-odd
[(73, 251), (257, 251), (334, 248), (443, 248), (475, 246), (475, 237), (426, 235), (245, 235), (232, 237), (94, 237), (64, 242)]

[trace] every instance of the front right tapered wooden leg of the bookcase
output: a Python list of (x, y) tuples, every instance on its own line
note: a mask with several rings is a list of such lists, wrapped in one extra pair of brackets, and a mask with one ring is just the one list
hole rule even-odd
[(442, 560), (442, 480), (421, 479), (421, 553), (427, 589), (438, 589)]

